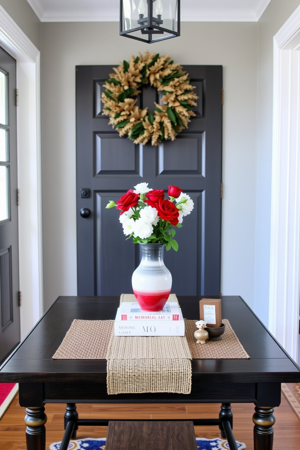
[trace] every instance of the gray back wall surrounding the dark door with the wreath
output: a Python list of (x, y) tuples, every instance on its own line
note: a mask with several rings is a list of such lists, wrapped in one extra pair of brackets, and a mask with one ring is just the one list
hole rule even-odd
[(41, 29), (45, 308), (76, 294), (75, 66), (118, 65), (147, 48), (182, 64), (224, 66), (222, 293), (253, 306), (257, 23), (182, 23), (180, 37), (150, 46), (119, 36), (118, 23)]

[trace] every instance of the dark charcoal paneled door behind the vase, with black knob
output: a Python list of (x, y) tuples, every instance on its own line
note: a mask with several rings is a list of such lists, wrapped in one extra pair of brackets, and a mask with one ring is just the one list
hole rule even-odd
[[(119, 212), (106, 210), (128, 189), (148, 182), (152, 189), (180, 186), (195, 207), (176, 229), (179, 251), (165, 251), (178, 295), (218, 295), (220, 289), (222, 67), (186, 66), (199, 96), (196, 117), (175, 141), (158, 147), (120, 138), (99, 101), (111, 66), (76, 67), (77, 266), (78, 295), (132, 292), (139, 246), (125, 240)], [(138, 103), (154, 111), (158, 93), (143, 86)], [(81, 188), (90, 188), (81, 198)], [(88, 218), (80, 216), (89, 208)]]

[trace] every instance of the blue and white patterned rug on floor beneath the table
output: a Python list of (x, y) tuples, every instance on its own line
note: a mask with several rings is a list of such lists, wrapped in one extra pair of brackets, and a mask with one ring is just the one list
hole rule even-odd
[[(70, 441), (68, 450), (104, 450), (105, 449), (105, 437), (99, 437), (94, 439), (87, 437), (85, 439), (78, 439), (76, 441)], [(198, 450), (230, 450), (228, 442), (216, 437), (215, 439), (205, 439), (204, 437), (196, 438)], [(60, 442), (54, 442), (50, 445), (50, 450), (59, 450)], [(237, 441), (238, 450), (243, 450), (246, 445)]]

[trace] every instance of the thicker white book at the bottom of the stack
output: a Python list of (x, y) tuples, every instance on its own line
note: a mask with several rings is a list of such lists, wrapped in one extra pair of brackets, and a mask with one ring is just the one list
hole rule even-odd
[(184, 336), (184, 318), (179, 320), (121, 320), (118, 308), (114, 324), (115, 336)]

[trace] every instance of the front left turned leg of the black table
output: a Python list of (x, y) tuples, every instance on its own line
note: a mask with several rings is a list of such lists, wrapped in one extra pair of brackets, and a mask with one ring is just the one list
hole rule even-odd
[(27, 450), (45, 450), (47, 416), (44, 406), (40, 408), (26, 408), (25, 423)]

